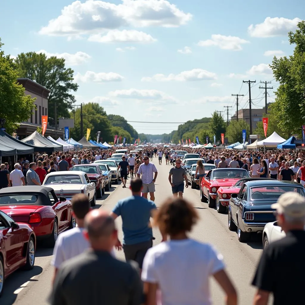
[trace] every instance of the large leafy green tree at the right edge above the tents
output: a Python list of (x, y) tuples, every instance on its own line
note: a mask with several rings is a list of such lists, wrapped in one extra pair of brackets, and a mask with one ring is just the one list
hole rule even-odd
[(271, 65), (280, 83), (271, 109), (282, 131), (300, 133), (305, 122), (305, 21), (298, 23), (296, 32), (289, 32), (288, 36), (290, 44), (295, 45), (293, 55), (274, 57)]

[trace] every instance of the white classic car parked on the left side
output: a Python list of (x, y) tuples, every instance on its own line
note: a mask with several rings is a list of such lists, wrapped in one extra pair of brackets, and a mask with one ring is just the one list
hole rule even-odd
[(71, 200), (75, 194), (83, 193), (88, 196), (91, 206), (95, 206), (95, 183), (91, 182), (87, 174), (81, 170), (49, 173), (45, 176), (42, 185), (53, 188), (56, 196), (68, 200)]

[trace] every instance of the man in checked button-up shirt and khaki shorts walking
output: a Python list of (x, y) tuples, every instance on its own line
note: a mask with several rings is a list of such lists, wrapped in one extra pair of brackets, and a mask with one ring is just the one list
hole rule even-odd
[(149, 193), (150, 200), (155, 201), (155, 182), (158, 176), (158, 171), (153, 163), (149, 163), (149, 158), (145, 156), (143, 158), (144, 163), (139, 166), (138, 178), (142, 175), (143, 190), (142, 196), (147, 199)]

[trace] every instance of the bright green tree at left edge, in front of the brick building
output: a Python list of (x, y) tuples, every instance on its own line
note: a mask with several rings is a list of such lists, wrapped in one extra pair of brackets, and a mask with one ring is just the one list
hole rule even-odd
[(30, 117), (36, 99), (24, 95), (24, 87), (17, 82), (18, 72), (1, 50), (2, 45), (0, 39), (0, 118), (5, 119), (6, 131), (11, 134), (18, 123)]

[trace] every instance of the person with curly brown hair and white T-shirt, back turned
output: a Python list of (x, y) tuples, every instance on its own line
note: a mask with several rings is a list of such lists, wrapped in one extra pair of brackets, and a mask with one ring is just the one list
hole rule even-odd
[(210, 244), (188, 237), (198, 220), (192, 204), (168, 199), (153, 218), (163, 236), (170, 240), (150, 248), (144, 258), (142, 280), (146, 305), (211, 304), (209, 277), (213, 276), (226, 294), (227, 304), (237, 304), (237, 295), (223, 257)]

